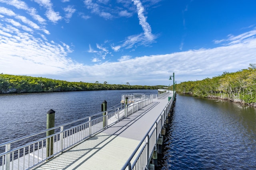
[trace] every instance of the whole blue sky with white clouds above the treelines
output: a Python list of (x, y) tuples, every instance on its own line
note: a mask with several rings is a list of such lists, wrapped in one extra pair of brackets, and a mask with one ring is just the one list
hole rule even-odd
[(0, 72), (169, 85), (256, 63), (255, 0), (0, 0)]

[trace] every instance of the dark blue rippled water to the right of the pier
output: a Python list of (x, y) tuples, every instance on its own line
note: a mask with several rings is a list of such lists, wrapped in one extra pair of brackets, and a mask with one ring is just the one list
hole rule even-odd
[(162, 170), (255, 170), (256, 109), (177, 95)]

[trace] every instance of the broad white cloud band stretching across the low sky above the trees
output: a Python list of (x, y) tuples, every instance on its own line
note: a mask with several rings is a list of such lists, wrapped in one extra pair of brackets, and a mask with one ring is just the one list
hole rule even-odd
[[(4, 30), (4, 34), (1, 30)], [(10, 32), (15, 32), (16, 35), (11, 35)], [(168, 77), (172, 72), (176, 73), (177, 82), (202, 80), (222, 74), (224, 71), (232, 72), (247, 68), (249, 63), (255, 61), (256, 29), (228, 38), (225, 45), (212, 49), (136, 58), (122, 56), (118, 62), (84, 65), (67, 58), (70, 51), (67, 45), (42, 41), (18, 31), (11, 25), (5, 29), (0, 25), (0, 68), (1, 72), (8, 74), (18, 72), (32, 75), (33, 72), (36, 76), (62, 76), (62, 79), (68, 81), (95, 82), (104, 76), (104, 81), (113, 84), (128, 81), (133, 85), (164, 85), (169, 83)], [(236, 43), (232, 43), (233, 41)], [(108, 52), (101, 45), (97, 46), (100, 51)], [(90, 45), (89, 48), (90, 52), (97, 52)], [(19, 56), (16, 55), (16, 51), (19, 51)], [(94, 57), (92, 61), (100, 62), (100, 59)], [(26, 67), (27, 65), (30, 67)]]

